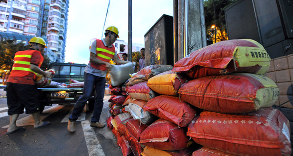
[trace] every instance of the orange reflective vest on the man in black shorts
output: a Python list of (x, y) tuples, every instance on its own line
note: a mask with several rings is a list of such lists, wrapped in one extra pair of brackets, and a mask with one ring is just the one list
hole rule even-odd
[(12, 66), (12, 71), (10, 76), (14, 77), (24, 77), (29, 75), (30, 73), (34, 73), (34, 79), (36, 79), (36, 73), (30, 69), (30, 62), (32, 58), (32, 54), (34, 52), (39, 53), (41, 59), (39, 63), (39, 67), (41, 67), (44, 58), (40, 51), (37, 50), (25, 50), (16, 52), (14, 56), (14, 64)]

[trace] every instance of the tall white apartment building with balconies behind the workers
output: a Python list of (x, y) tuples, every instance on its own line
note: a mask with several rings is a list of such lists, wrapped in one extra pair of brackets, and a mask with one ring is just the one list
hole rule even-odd
[(64, 62), (69, 0), (1, 0), (0, 37), (27, 43), (46, 40), (46, 55)]

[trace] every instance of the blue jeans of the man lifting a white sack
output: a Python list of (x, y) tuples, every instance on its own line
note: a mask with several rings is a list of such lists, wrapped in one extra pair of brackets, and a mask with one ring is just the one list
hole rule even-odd
[(90, 98), (94, 88), (93, 86), (95, 85), (96, 98), (94, 113), (91, 117), (91, 122), (99, 122), (104, 105), (103, 101), (105, 95), (105, 83), (106, 79), (103, 77), (97, 77), (92, 74), (84, 73), (84, 92), (74, 105), (73, 112), (69, 117), (70, 121), (76, 121), (78, 117), (83, 113), (84, 105), (88, 98)]

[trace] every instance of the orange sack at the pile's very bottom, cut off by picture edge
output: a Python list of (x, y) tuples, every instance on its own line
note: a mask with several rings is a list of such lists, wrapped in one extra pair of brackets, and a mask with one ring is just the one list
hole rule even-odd
[(191, 156), (194, 150), (194, 148), (185, 148), (179, 151), (164, 151), (146, 146), (142, 156)]

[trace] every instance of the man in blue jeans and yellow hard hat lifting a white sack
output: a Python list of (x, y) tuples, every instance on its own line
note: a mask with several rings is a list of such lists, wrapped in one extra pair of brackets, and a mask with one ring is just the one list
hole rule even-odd
[(111, 67), (109, 63), (111, 59), (114, 59), (114, 61), (119, 64), (128, 63), (128, 61), (119, 59), (118, 55), (115, 53), (113, 43), (117, 38), (119, 38), (118, 28), (109, 26), (105, 29), (105, 39), (93, 39), (91, 41), (89, 63), (84, 69), (83, 96), (77, 100), (68, 120), (67, 130), (71, 133), (76, 131), (75, 122), (83, 112), (84, 105), (91, 96), (93, 88), (96, 89), (96, 99), (90, 126), (96, 128), (105, 127), (105, 124), (101, 123), (99, 120), (104, 105), (106, 69)]

